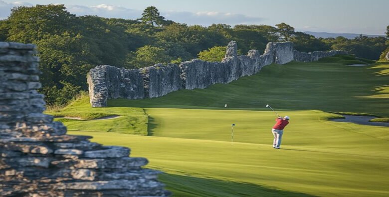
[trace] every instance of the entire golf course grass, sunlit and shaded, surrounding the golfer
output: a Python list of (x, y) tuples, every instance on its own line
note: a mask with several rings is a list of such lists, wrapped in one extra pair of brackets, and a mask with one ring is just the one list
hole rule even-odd
[[(175, 196), (389, 196), (389, 129), (331, 122), (324, 111), (389, 116), (389, 64), (345, 66), (350, 57), (269, 65), (258, 74), (206, 89), (143, 100), (86, 97), (56, 116), (75, 135), (128, 146)], [(228, 108), (223, 108), (224, 104)], [(291, 117), (281, 150), (271, 147), (275, 114)], [(235, 123), (231, 145), (231, 124)], [(140, 135), (128, 135), (140, 134)]]

